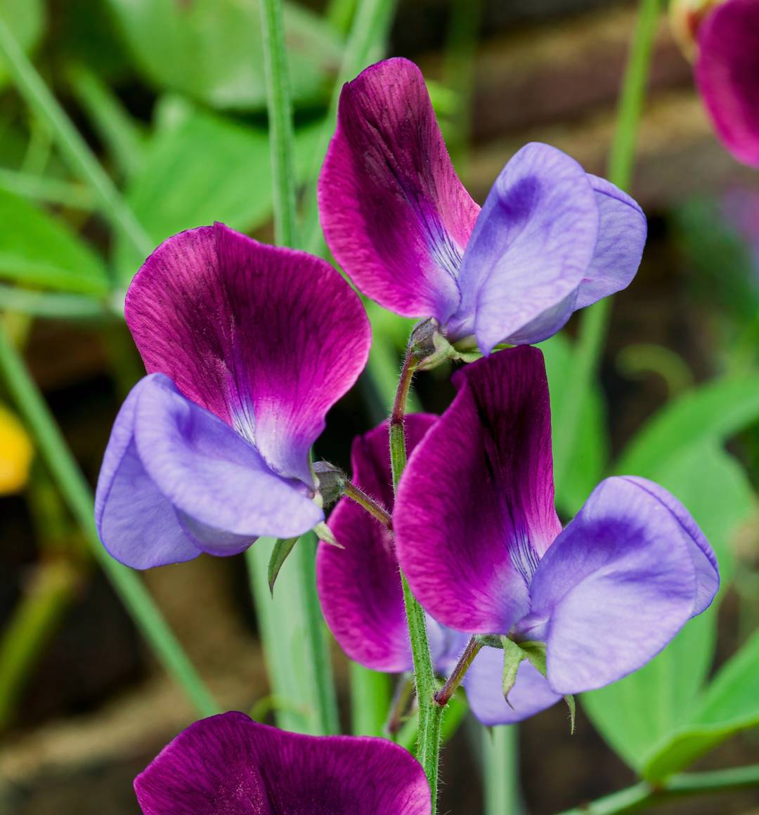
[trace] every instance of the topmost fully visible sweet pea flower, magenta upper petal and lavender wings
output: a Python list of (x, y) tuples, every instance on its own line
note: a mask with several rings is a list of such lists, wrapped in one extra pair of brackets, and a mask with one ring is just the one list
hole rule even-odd
[(480, 210), (408, 59), (343, 87), (318, 192), (329, 248), (364, 294), (485, 354), (550, 337), (624, 289), (646, 240), (630, 196), (545, 144), (505, 165)]

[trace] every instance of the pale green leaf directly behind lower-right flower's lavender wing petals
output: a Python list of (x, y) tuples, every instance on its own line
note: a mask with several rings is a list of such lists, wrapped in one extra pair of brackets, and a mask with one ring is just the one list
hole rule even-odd
[[(722, 586), (730, 580), (730, 541), (756, 499), (738, 462), (704, 442), (667, 459), (651, 477), (691, 510), (717, 553)], [(631, 676), (582, 697), (583, 707), (611, 747), (642, 769), (655, 746), (691, 720), (712, 664), (717, 603), (686, 623), (669, 646)]]

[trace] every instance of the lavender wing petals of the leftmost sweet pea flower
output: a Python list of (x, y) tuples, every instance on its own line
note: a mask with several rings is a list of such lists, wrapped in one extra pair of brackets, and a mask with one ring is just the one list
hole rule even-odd
[(99, 534), (117, 560), (144, 569), (199, 551), (236, 554), (259, 535), (292, 537), (322, 518), (301, 482), (271, 472), (170, 379), (153, 374), (135, 385), (98, 484)]

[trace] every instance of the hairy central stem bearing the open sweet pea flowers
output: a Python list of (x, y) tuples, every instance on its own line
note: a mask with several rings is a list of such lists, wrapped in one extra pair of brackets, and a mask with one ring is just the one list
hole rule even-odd
[[(411, 387), (416, 359), (413, 354), (413, 343), (409, 342), (404, 358), (403, 368), (395, 395), (393, 413), (390, 422), (390, 456), (393, 472), (393, 488), (398, 489), (398, 482), (406, 467), (406, 437), (404, 433), (404, 414), (408, 390)], [(427, 626), (424, 610), (411, 593), (405, 575), (400, 575), (404, 589), (404, 606), (408, 621), (408, 636), (411, 640), (411, 652), (414, 665), (414, 682), (417, 688), (419, 703), (419, 730), (417, 759), (424, 768), (427, 781), (432, 791), (432, 813), (435, 815), (438, 788), (438, 765), (440, 754), (440, 728), (443, 721), (444, 707), (435, 704), (435, 667), (430, 655), (430, 643), (427, 640)]]

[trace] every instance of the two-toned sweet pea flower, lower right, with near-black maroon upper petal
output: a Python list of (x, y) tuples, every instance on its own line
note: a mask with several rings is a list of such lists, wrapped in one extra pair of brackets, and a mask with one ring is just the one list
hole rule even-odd
[[(414, 596), (455, 630), (545, 645), (537, 709), (642, 667), (717, 593), (703, 533), (664, 488), (631, 476), (602, 481), (562, 528), (540, 350), (501, 351), (454, 383), (395, 502), (396, 552)], [(498, 657), (489, 649), (475, 660), (470, 691), (486, 692)], [(497, 680), (491, 724), (516, 712), (499, 694)]]

